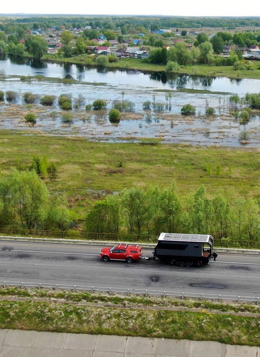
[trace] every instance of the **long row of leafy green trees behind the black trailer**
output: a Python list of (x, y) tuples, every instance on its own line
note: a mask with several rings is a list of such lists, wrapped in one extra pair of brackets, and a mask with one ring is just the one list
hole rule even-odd
[[(221, 170), (221, 168), (219, 169)], [(260, 207), (234, 190), (210, 197), (204, 186), (181, 197), (175, 183), (110, 195), (90, 209), (85, 230), (159, 235), (161, 232), (211, 234), (221, 240), (259, 241)]]

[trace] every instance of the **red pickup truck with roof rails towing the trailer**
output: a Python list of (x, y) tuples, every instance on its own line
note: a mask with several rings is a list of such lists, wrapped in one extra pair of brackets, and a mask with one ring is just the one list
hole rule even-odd
[(100, 251), (100, 257), (104, 262), (110, 259), (125, 260), (127, 263), (132, 263), (134, 260), (139, 260), (142, 256), (142, 247), (139, 245), (118, 244), (114, 247), (105, 247)]

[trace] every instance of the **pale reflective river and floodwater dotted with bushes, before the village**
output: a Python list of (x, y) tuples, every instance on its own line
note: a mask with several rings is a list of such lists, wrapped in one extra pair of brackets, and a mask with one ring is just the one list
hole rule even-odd
[[(98, 70), (85, 66), (62, 64), (37, 64), (31, 60), (0, 60), (0, 71), (6, 75), (42, 75), (47, 77), (73, 78), (77, 84), (62, 84), (47, 81), (21, 82), (17, 78), (0, 81), (0, 90), (14, 90), (19, 98), (15, 103), (4, 102), (0, 105), (0, 129), (14, 129), (28, 134), (77, 135), (90, 140), (109, 142), (138, 141), (144, 138), (160, 138), (168, 143), (188, 143), (199, 145), (240, 146), (239, 134), (243, 130), (250, 132), (250, 140), (246, 144), (256, 147), (260, 144), (260, 116), (252, 116), (248, 124), (240, 125), (239, 120), (230, 115), (229, 94), (203, 94), (174, 91), (178, 87), (207, 89), (210, 91), (234, 92), (240, 95), (246, 92), (259, 92), (259, 80), (230, 80), (200, 76), (171, 75), (165, 73), (149, 74), (140, 71)], [(80, 81), (92, 82), (96, 85), (80, 84)], [(172, 89), (169, 101), (165, 92), (156, 90)], [(31, 127), (24, 121), (24, 113), (28, 111), (22, 100), (22, 94), (31, 91), (34, 94), (54, 94), (57, 97), (66, 92), (73, 98), (82, 95), (85, 104), (91, 104), (95, 99), (105, 99), (108, 109), (113, 106), (113, 100), (124, 99), (135, 104), (134, 113), (125, 113), (119, 123), (110, 123), (108, 111), (86, 112), (84, 105), (79, 110), (73, 110), (74, 120), (71, 125), (62, 123), (61, 111), (57, 101), (50, 109), (39, 103), (34, 105), (37, 113), (36, 125)], [(155, 96), (155, 97), (154, 97)], [(163, 113), (142, 110), (146, 100), (162, 102), (168, 105)], [(196, 106), (196, 116), (183, 117), (181, 107), (191, 103)], [(207, 106), (216, 110), (213, 118), (205, 117)], [(14, 110), (13, 110), (14, 109)], [(51, 111), (57, 111), (53, 117)], [(17, 114), (16, 114), (17, 113)]]

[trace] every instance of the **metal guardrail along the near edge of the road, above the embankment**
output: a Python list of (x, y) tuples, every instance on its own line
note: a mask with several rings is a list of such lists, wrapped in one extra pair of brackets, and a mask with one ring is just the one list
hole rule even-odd
[[(128, 289), (128, 288), (111, 288), (111, 287), (102, 287), (102, 286), (83, 286), (83, 285), (63, 285), (63, 284), (50, 284), (50, 283), (34, 283), (34, 282), (20, 282), (20, 281), (0, 281), (1, 287), (19, 287), (23, 288), (41, 288), (43, 289), (53, 289), (53, 290), (71, 290), (73, 292), (76, 291), (90, 291), (90, 292), (107, 292), (111, 293), (124, 293), (127, 296), (135, 294), (135, 295), (144, 295), (145, 297), (152, 295), (158, 295), (163, 297), (179, 297), (182, 300), (184, 298), (196, 298), (199, 300), (207, 299), (207, 300), (232, 300), (236, 302), (253, 302), (256, 305), (259, 305), (260, 297), (252, 297), (252, 296), (236, 296), (236, 295), (217, 295), (217, 294), (200, 294), (200, 293), (192, 293), (192, 292), (176, 292), (176, 291), (160, 291), (160, 290), (143, 290), (143, 289)], [(0, 292), (1, 293), (1, 292)]]

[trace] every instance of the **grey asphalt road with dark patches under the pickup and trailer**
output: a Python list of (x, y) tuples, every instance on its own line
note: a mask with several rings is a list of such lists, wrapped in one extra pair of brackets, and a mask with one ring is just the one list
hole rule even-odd
[[(160, 261), (103, 262), (100, 247), (0, 242), (0, 280), (260, 296), (260, 256), (219, 254), (199, 268)], [(145, 256), (152, 256), (145, 250)]]

